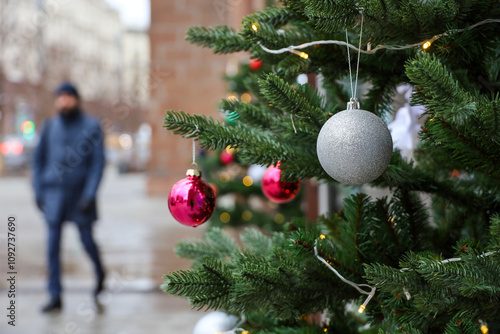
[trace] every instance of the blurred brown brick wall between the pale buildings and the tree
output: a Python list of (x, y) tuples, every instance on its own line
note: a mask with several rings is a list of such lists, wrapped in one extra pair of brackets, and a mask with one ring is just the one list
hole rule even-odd
[(226, 95), (222, 76), (228, 56), (184, 41), (190, 26), (239, 26), (241, 18), (262, 8), (263, 0), (151, 0), (151, 101), (153, 128), (148, 192), (167, 195), (184, 178), (192, 142), (167, 132), (165, 110), (220, 118), (217, 105)]

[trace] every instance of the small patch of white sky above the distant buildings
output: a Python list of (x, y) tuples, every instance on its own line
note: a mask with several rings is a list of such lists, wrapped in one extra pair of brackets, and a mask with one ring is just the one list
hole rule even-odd
[(149, 27), (149, 0), (106, 0), (106, 2), (120, 12), (122, 21), (126, 25), (139, 28)]

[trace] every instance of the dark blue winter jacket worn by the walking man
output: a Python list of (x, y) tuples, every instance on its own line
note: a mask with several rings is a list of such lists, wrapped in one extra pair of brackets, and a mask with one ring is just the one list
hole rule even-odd
[(98, 120), (80, 110), (45, 122), (33, 159), (33, 186), (49, 224), (97, 219), (103, 141)]

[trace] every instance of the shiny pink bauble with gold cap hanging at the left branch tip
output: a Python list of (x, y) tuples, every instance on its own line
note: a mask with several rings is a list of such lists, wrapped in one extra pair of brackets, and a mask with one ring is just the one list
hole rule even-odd
[(179, 223), (196, 227), (214, 212), (215, 193), (212, 186), (201, 179), (199, 170), (188, 169), (186, 175), (170, 190), (168, 208)]

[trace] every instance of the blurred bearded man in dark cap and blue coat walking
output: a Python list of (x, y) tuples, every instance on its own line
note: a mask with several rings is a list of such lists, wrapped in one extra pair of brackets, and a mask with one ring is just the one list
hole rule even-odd
[(49, 302), (42, 312), (60, 310), (61, 230), (75, 222), (87, 254), (94, 264), (97, 297), (103, 289), (104, 270), (92, 236), (97, 219), (96, 193), (104, 167), (103, 134), (99, 122), (80, 109), (78, 91), (63, 83), (56, 91), (58, 114), (42, 130), (33, 163), (36, 203), (48, 227)]

